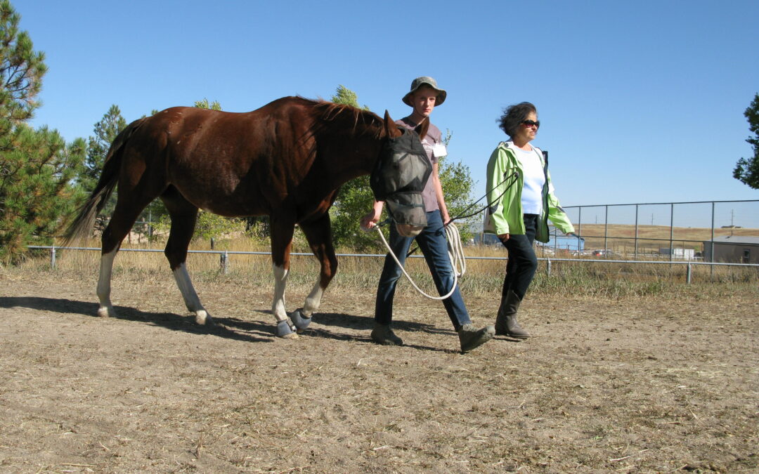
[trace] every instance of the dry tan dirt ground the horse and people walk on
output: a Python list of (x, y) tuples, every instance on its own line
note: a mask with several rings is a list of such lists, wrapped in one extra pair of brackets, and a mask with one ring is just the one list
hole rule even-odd
[[(759, 302), (526, 300), (534, 337), (472, 353), (442, 305), (330, 288), (272, 336), (271, 289), (0, 272), (2, 472), (759, 472)], [(304, 294), (288, 292), (288, 309)], [(469, 300), (492, 322), (493, 299)]]

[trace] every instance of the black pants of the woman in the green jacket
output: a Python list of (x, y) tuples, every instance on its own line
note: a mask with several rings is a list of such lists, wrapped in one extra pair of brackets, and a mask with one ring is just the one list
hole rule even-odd
[(532, 247), (537, 231), (537, 214), (524, 214), (524, 234), (510, 234), (509, 240), (503, 243), (509, 251), (509, 261), (506, 263), (506, 276), (503, 279), (502, 299), (505, 300), (509, 290), (524, 299), (532, 278), (537, 271), (537, 256)]

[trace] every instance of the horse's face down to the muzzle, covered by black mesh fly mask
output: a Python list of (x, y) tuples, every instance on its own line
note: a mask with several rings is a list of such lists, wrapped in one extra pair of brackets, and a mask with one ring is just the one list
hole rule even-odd
[(369, 178), (374, 199), (384, 201), (398, 233), (415, 237), (427, 225), (422, 190), (432, 173), (419, 135), (404, 127), (389, 138)]

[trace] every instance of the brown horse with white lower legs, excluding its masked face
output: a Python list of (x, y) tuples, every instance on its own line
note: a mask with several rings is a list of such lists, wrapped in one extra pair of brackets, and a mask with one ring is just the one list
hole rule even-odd
[[(201, 325), (212, 320), (185, 265), (198, 209), (230, 217), (270, 216), (272, 313), (277, 335), (297, 337), (294, 331), (309, 324), (337, 270), (328, 210), (338, 188), (372, 171), (388, 139), (401, 134), (387, 112), (381, 119), (301, 97), (277, 99), (247, 113), (168, 108), (132, 122), (112, 143), (95, 190), (66, 232), (68, 241), (87, 234), (118, 184), (118, 201), (102, 234), (98, 315), (114, 315), (113, 260), (137, 216), (159, 197), (172, 219), (165, 256), (187, 309)], [(284, 296), (295, 224), (321, 272), (303, 308), (288, 318)]]

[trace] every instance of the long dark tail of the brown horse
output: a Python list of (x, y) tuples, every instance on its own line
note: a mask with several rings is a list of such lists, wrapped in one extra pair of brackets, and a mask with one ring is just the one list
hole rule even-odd
[(86, 237), (90, 229), (93, 228), (97, 215), (106, 207), (108, 198), (113, 193), (113, 190), (115, 190), (116, 184), (118, 184), (118, 174), (121, 170), (124, 146), (126, 146), (132, 134), (140, 128), (140, 125), (144, 121), (145, 118), (140, 118), (132, 122), (124, 130), (121, 130), (121, 133), (113, 140), (95, 189), (90, 193), (87, 201), (77, 210), (77, 216), (74, 218), (74, 221), (71, 221), (71, 224), (66, 228), (63, 236), (65, 246), (68, 246), (74, 240)]

